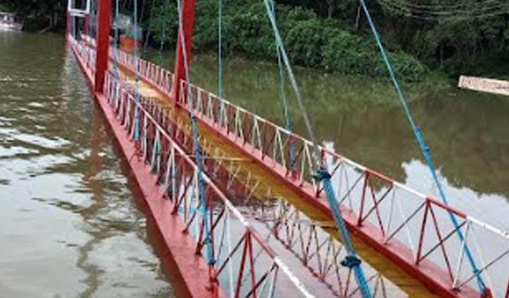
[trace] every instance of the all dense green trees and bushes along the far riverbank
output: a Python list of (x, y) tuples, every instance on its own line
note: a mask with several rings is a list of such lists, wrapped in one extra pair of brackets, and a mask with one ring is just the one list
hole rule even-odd
[[(84, 1), (84, 0), (83, 0)], [(134, 0), (120, 0), (132, 13)], [(229, 55), (275, 60), (274, 36), (262, 0), (223, 0)], [(345, 74), (385, 74), (358, 0), (276, 0), (284, 41), (296, 65)], [(77, 0), (79, 3), (80, 1)], [(397, 73), (408, 81), (427, 69), (449, 74), (507, 75), (509, 1), (368, 0)], [(67, 0), (0, 0), (0, 6), (38, 20), (33, 27), (62, 27)], [(138, 0), (152, 46), (176, 41), (176, 1)], [(195, 50), (217, 47), (218, 0), (197, 0)], [(44, 21), (43, 21), (44, 20)], [(161, 39), (164, 43), (161, 43)]]

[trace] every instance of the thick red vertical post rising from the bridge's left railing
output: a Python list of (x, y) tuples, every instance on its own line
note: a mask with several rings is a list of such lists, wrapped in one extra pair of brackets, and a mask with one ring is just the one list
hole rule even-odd
[(105, 72), (108, 67), (110, 50), (110, 29), (112, 0), (100, 0), (97, 18), (97, 54), (95, 57), (95, 92), (103, 93)]

